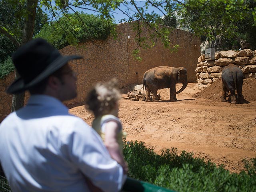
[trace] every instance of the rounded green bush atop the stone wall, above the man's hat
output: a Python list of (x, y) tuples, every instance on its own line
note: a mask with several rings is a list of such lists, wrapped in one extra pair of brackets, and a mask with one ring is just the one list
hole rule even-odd
[(105, 40), (114, 32), (113, 20), (102, 20), (92, 14), (65, 14), (58, 21), (45, 24), (35, 36), (44, 38), (55, 48), (61, 49), (69, 44), (86, 42), (92, 39)]

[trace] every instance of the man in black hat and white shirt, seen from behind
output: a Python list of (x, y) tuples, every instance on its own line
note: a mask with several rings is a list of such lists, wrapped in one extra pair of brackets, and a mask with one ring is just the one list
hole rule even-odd
[(24, 108), (0, 124), (0, 163), (12, 191), (122, 188), (122, 166), (110, 157), (98, 134), (62, 104), (76, 97), (76, 76), (68, 61), (80, 58), (62, 56), (41, 38), (12, 56), (21, 77), (7, 92), (31, 94)]

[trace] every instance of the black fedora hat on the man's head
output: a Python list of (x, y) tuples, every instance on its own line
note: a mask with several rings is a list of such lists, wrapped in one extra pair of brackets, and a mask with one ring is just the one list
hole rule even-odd
[(15, 80), (6, 92), (15, 94), (36, 86), (69, 60), (80, 58), (82, 57), (76, 55), (62, 56), (46, 40), (36, 38), (20, 46), (12, 55), (12, 61), (20, 78)]

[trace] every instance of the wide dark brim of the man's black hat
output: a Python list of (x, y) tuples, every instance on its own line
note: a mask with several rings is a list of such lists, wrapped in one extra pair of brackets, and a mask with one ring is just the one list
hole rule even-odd
[(38, 84), (42, 80), (44, 80), (46, 77), (50, 76), (56, 70), (60, 69), (62, 66), (64, 66), (69, 60), (73, 59), (82, 59), (82, 56), (72, 55), (72, 56), (60, 56), (54, 62), (52, 62), (47, 68), (45, 68), (42, 73), (40, 73), (36, 78), (34, 78), (31, 82), (28, 84), (25, 84), (24, 80), (22, 78), (18, 78), (15, 80), (6, 90), (9, 94), (16, 94), (22, 91), (27, 90), (28, 88), (31, 88), (32, 86)]

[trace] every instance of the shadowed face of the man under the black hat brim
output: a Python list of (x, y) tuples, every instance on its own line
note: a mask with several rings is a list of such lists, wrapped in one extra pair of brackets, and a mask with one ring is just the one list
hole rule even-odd
[(61, 84), (59, 87), (59, 98), (61, 101), (74, 99), (77, 96), (76, 92), (76, 74), (68, 64), (63, 66), (61, 71)]

